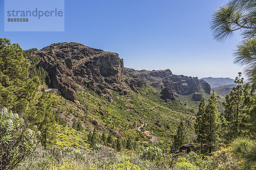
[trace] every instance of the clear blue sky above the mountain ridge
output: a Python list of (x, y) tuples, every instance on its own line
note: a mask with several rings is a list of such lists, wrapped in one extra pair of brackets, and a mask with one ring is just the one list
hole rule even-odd
[[(20, 1), (22, 3), (22, 1)], [(211, 15), (225, 0), (65, 0), (64, 32), (4, 32), (0, 37), (23, 49), (53, 42), (80, 42), (116, 52), (128, 68), (169, 68), (174, 74), (235, 78), (233, 64), (239, 32), (226, 42), (213, 40)]]

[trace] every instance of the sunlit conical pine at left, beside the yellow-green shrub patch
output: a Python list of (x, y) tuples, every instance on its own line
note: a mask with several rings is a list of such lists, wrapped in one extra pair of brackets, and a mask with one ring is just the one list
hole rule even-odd
[(41, 144), (46, 148), (48, 144), (55, 144), (55, 117), (52, 111), (52, 103), (50, 94), (47, 94), (44, 89), (42, 96), (38, 99), (35, 105), (37, 110), (37, 119), (35, 125), (38, 125), (38, 130), (41, 131)]

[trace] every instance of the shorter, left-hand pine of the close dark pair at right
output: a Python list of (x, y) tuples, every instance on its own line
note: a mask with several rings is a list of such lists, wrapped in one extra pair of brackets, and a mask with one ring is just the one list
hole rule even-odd
[(202, 99), (199, 108), (198, 113), (196, 115), (196, 123), (195, 123), (195, 133), (197, 134), (197, 141), (201, 144), (201, 153), (203, 152), (203, 144), (206, 143), (206, 132), (205, 132), (205, 118), (206, 118), (206, 104), (205, 99)]

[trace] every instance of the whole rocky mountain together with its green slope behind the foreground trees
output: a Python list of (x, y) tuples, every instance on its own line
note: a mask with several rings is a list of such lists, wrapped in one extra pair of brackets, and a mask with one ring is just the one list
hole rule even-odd
[[(143, 141), (137, 127), (144, 124), (142, 130), (157, 137), (154, 143), (166, 147), (183, 120), (190, 138), (195, 138), (193, 116), (199, 102), (192, 97), (200, 94), (208, 99), (211, 88), (207, 82), (174, 75), (169, 69), (124, 68), (118, 54), (77, 42), (53, 44), (30, 55), (41, 58), (37, 67), (49, 74), (49, 88), (60, 92), (52, 94), (52, 101), (64, 127), (79, 121), (87, 133), (97, 127), (116, 138)], [(69, 143), (59, 139), (65, 146)]]

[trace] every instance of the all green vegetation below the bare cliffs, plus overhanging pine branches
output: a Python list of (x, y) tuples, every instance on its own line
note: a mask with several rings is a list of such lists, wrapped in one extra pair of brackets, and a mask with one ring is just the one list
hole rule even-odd
[(201, 102), (192, 94), (166, 102), (147, 83), (129, 95), (111, 91), (112, 101), (79, 88), (71, 102), (46, 92), (37, 49), (0, 39), (0, 169), (256, 169), (255, 7), (232, 0), (212, 21), (218, 40), (244, 31), (236, 62), (251, 84), (239, 73), (230, 94), (200, 91)]

